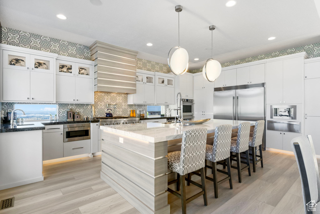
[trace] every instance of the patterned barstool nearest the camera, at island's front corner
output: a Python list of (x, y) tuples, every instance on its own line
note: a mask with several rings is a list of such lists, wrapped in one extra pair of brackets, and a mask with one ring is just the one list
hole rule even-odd
[[(168, 158), (168, 169), (178, 173), (178, 178), (168, 183), (168, 186), (174, 183), (180, 183), (181, 194), (168, 188), (168, 192), (174, 194), (181, 199), (182, 213), (187, 213), (187, 203), (203, 195), (204, 205), (207, 206), (207, 192), (205, 188), (205, 174), (204, 174), (204, 157), (205, 145), (207, 142), (206, 128), (193, 128), (183, 131), (181, 151), (170, 152), (166, 157)], [(187, 178), (188, 173), (200, 169), (201, 184), (198, 184)], [(202, 191), (186, 198), (186, 182), (202, 188)], [(177, 188), (178, 189), (178, 188)]]

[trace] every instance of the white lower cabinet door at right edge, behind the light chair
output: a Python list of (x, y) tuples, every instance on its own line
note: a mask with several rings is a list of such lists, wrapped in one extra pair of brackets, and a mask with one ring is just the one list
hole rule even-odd
[(316, 155), (320, 155), (320, 117), (304, 117), (304, 135), (311, 135)]

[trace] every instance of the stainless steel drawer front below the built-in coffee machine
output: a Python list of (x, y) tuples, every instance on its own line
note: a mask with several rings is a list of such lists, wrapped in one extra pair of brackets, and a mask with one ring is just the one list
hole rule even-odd
[(267, 129), (273, 131), (300, 133), (301, 125), (300, 122), (268, 120)]

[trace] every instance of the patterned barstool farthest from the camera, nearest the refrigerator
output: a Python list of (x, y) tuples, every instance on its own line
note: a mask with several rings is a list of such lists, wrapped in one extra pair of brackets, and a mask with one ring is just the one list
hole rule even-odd
[[(253, 130), (253, 136), (249, 138), (249, 148), (252, 151), (252, 168), (253, 172), (256, 172), (256, 164), (261, 161), (261, 167), (263, 167), (262, 160), (262, 137), (264, 131), (264, 120), (256, 121)], [(259, 155), (256, 154), (257, 146), (259, 146)], [(257, 157), (259, 159), (257, 160)]]

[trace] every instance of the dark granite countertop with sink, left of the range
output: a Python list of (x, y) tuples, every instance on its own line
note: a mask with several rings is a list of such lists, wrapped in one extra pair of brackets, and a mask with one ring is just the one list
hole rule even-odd
[(0, 133), (4, 132), (19, 132), (19, 131), (34, 131), (44, 130), (45, 126), (49, 125), (62, 125), (62, 124), (74, 124), (74, 123), (98, 123), (99, 120), (77, 120), (77, 121), (30, 121), (24, 122), (11, 127), (10, 123), (0, 124)]

